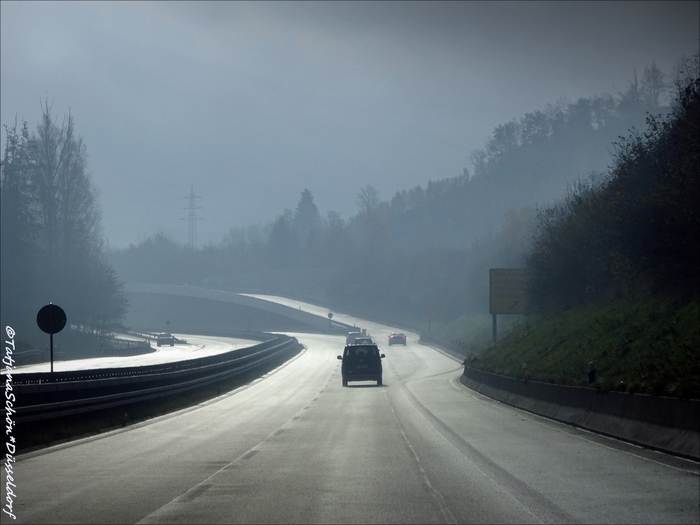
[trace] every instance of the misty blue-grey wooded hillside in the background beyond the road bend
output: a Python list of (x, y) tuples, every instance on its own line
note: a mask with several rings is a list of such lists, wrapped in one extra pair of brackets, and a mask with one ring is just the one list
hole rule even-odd
[[(678, 118), (679, 84), (667, 79), (652, 64), (614, 95), (560, 100), (527, 113), (496, 127), (459, 176), (400, 190), (387, 200), (371, 185), (359, 188), (357, 214), (348, 220), (333, 211), (321, 215), (305, 189), (296, 206), (271, 223), (233, 228), (218, 244), (193, 249), (158, 233), (113, 251), (111, 261), (130, 281), (295, 295), (413, 326), (485, 314), (489, 268), (527, 263), (542, 283), (552, 272), (548, 264), (564, 264), (544, 255), (559, 250), (551, 240), (555, 224), (578, 221), (561, 210), (583, 198), (585, 188), (609, 186), (620, 170), (632, 173), (629, 187), (616, 190), (634, 187), (629, 202), (640, 197), (637, 186), (649, 186), (636, 180), (630, 159), (639, 137)], [(669, 92), (676, 96), (673, 106), (666, 102)], [(634, 131), (645, 129), (647, 117), (652, 131)], [(607, 205), (617, 209), (613, 200)], [(633, 220), (629, 210), (618, 213), (620, 224)], [(589, 237), (597, 239), (594, 232)], [(576, 281), (574, 261), (581, 254), (572, 233), (561, 232), (571, 260), (559, 271)], [(624, 237), (622, 231), (615, 235)], [(613, 253), (605, 264), (630, 264), (632, 252), (618, 257), (617, 248), (604, 249)], [(538, 294), (534, 304), (553, 304), (542, 287)]]

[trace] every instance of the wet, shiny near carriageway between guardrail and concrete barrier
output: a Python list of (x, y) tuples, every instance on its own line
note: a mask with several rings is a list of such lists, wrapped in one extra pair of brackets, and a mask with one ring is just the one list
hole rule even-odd
[(485, 398), (416, 334), (357, 321), (383, 386), (341, 386), (342, 337), (291, 334), (305, 350), (249, 385), (20, 456), (3, 523), (700, 521), (697, 463)]

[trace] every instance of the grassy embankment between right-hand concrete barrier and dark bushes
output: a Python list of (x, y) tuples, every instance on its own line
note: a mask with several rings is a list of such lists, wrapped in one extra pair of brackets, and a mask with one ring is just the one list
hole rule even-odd
[(588, 386), (594, 361), (601, 390), (700, 399), (699, 306), (616, 301), (524, 318), (496, 345), (483, 333), (470, 338), (468, 362), (485, 372)]

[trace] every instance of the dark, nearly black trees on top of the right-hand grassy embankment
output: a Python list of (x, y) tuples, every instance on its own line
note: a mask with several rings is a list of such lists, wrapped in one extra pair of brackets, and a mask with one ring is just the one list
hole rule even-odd
[(700, 76), (679, 77), (671, 114), (615, 143), (610, 170), (538, 216), (526, 260), (532, 306), (601, 297), (697, 298), (700, 269)]

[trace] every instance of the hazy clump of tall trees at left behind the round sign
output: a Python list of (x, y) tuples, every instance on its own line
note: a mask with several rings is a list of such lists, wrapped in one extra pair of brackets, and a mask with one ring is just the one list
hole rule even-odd
[(122, 283), (106, 259), (96, 190), (85, 144), (69, 113), (61, 125), (48, 103), (30, 134), (5, 126), (1, 220), (3, 325), (25, 338), (39, 309), (53, 302), (68, 322), (100, 333), (127, 308)]

